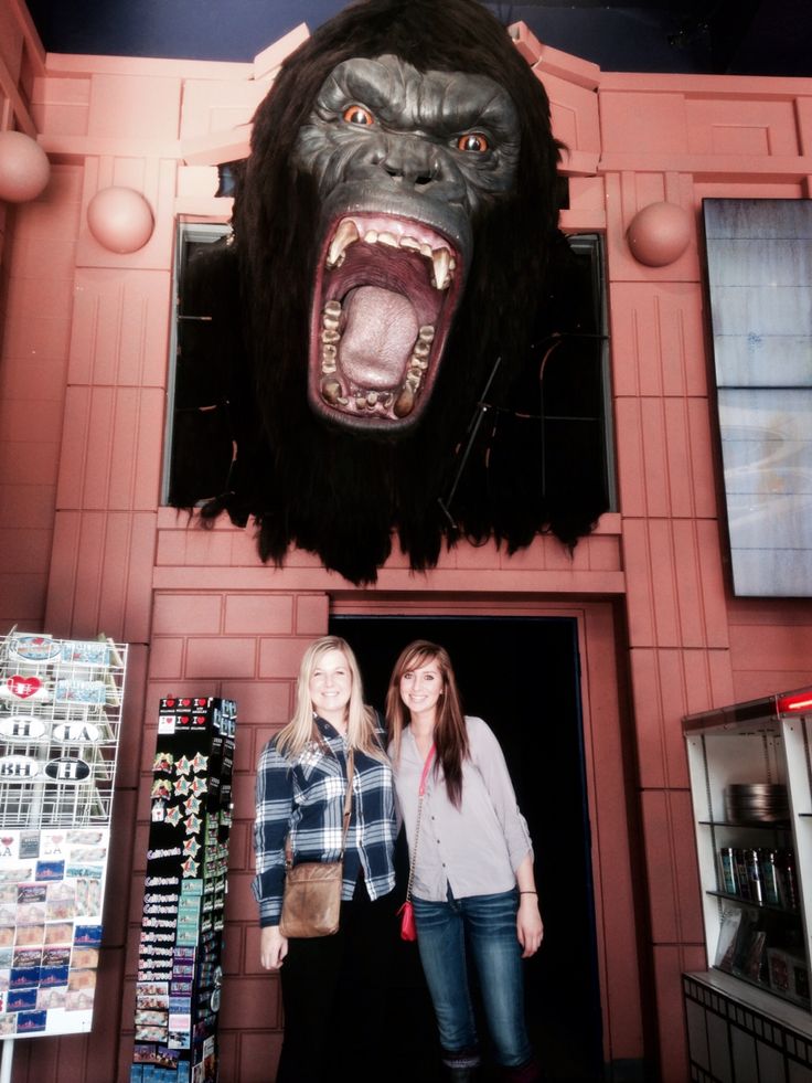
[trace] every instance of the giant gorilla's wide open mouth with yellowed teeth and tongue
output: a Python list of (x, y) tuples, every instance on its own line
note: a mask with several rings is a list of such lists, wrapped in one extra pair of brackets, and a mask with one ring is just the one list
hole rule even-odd
[(396, 432), (425, 408), (461, 289), (460, 256), (415, 219), (350, 213), (322, 246), (308, 392), (317, 414)]

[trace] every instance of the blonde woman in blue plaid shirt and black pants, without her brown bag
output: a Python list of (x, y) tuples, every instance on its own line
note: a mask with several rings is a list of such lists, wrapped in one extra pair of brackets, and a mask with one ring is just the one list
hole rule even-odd
[[(340, 928), (287, 938), (279, 931), (286, 839), (295, 863), (339, 858), (350, 748)], [(253, 891), (260, 963), (280, 970), (285, 1007), (277, 1083), (332, 1080), (342, 1058), (353, 1077), (381, 1079), (395, 832), (392, 768), (377, 715), (363, 701), (355, 657), (336, 636), (317, 639), (302, 658), (293, 718), (263, 748), (257, 767)]]

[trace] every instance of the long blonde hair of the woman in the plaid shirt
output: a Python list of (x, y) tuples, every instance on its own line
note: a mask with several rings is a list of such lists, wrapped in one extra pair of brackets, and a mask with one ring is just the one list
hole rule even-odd
[(321, 659), (331, 650), (340, 650), (350, 670), (350, 702), (346, 705), (346, 740), (350, 747), (366, 753), (375, 760), (386, 760), (375, 725), (375, 713), (364, 703), (361, 670), (355, 655), (345, 639), (339, 636), (322, 636), (314, 639), (304, 651), (299, 667), (296, 686), (296, 710), (293, 716), (276, 739), (281, 755), (296, 760), (313, 743), (321, 744), (321, 734), (314, 722), (313, 704), (310, 699), (310, 680)]

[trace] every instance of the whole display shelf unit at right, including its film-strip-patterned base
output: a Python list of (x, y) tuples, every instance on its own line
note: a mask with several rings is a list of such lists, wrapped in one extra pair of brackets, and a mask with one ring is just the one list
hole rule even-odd
[(691, 1079), (755, 1079), (758, 1061), (762, 1080), (811, 1080), (812, 688), (683, 729), (708, 965), (683, 976)]

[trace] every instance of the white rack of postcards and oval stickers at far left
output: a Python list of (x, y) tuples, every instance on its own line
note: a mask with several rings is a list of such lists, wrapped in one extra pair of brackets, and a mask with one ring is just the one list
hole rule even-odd
[(0, 1038), (88, 1031), (127, 647), (0, 637)]

